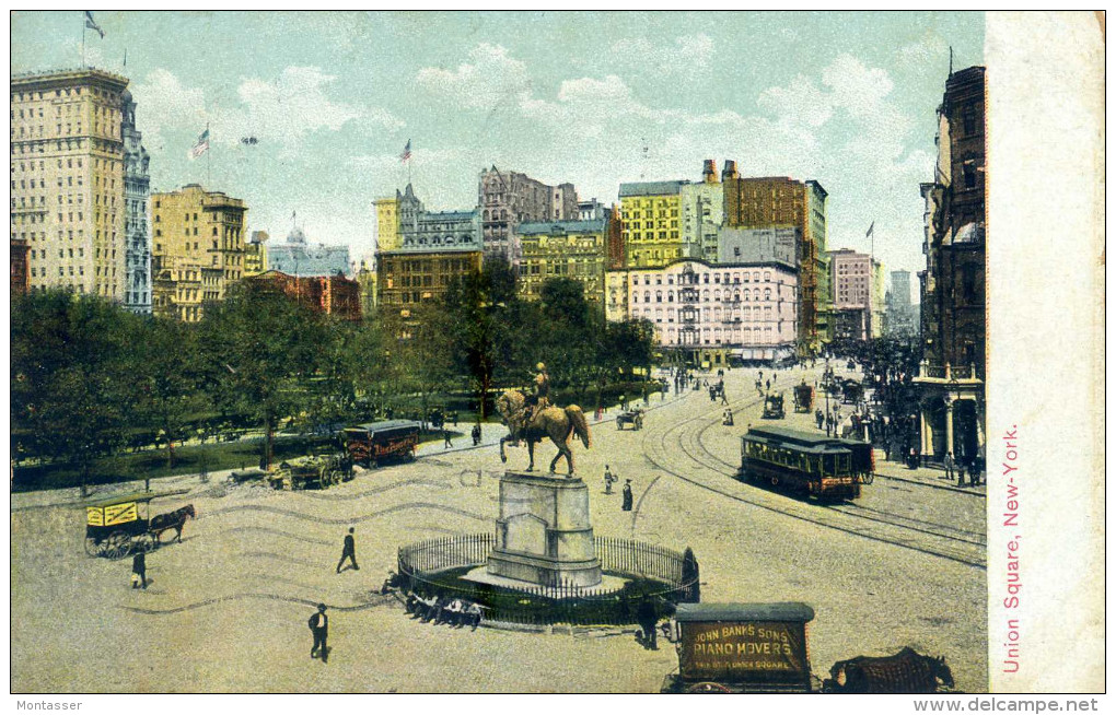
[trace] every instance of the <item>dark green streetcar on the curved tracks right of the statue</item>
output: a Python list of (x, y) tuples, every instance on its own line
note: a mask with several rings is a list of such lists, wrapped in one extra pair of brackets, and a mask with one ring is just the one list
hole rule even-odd
[(875, 471), (872, 445), (786, 427), (752, 427), (740, 439), (738, 479), (821, 500), (857, 499)]

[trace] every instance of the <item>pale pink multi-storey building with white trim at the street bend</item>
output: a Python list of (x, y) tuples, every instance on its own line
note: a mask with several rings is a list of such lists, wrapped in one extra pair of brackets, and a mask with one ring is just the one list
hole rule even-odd
[(664, 352), (723, 365), (775, 361), (795, 352), (798, 274), (780, 262), (708, 263), (681, 259), (663, 268), (609, 271), (626, 315), (648, 320)]

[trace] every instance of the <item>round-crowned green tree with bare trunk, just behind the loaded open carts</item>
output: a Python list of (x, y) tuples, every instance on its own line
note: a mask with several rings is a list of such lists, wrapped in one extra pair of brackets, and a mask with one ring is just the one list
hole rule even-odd
[(249, 280), (206, 307), (200, 339), (214, 403), (260, 425), (260, 463), (270, 467), (277, 427), (310, 406), (325, 321), (277, 287)]

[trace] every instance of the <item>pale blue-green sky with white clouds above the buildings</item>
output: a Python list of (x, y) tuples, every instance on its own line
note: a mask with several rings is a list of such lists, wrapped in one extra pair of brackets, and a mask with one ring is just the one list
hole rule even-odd
[[(984, 42), (983, 15), (955, 11), (95, 18), (85, 62), (131, 79), (153, 191), (243, 199), (272, 240), (297, 214), (354, 259), (374, 250), (372, 202), (408, 175), (432, 210), (474, 207), (493, 165), (610, 203), (622, 182), (699, 181), (702, 160), (728, 158), (819, 181), (830, 250), (868, 251), (874, 222), (885, 268), (917, 271), (950, 48), (961, 69)], [(81, 27), (79, 11), (12, 13), (12, 73), (79, 66)]]

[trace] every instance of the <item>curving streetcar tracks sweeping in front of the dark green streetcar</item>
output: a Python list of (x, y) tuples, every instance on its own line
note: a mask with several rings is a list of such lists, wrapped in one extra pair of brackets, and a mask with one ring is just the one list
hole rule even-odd
[[(756, 399), (752, 399), (752, 400), (747, 400), (747, 398), (742, 399), (742, 400), (738, 400), (733, 405), (730, 405), (730, 408), (732, 408), (733, 406), (737, 406), (737, 405), (741, 405), (741, 403), (745, 403), (744, 406), (752, 406), (752, 405), (757, 404), (760, 399), (762, 399), (762, 396), (760, 398), (756, 398)], [(914, 541), (914, 540), (912, 540), (910, 538), (904, 538), (902, 534), (881, 533), (879, 531), (877, 531), (875, 529), (864, 529), (864, 528), (862, 528), (862, 529), (854, 529), (854, 528), (850, 528), (850, 526), (847, 526), (847, 525), (835, 523), (833, 520), (819, 519), (820, 513), (826, 513), (826, 512), (820, 512), (820, 513), (817, 513), (817, 512), (805, 513), (802, 511), (798, 511), (798, 513), (796, 513), (796, 511), (791, 511), (791, 510), (788, 510), (788, 509), (779, 508), (779, 506), (777, 506), (775, 504), (771, 504), (771, 503), (763, 503), (763, 502), (761, 502), (759, 500), (756, 500), (756, 499), (752, 499), (752, 497), (748, 497), (748, 496), (743, 496), (743, 495), (740, 495), (740, 494), (734, 494), (734, 493), (724, 491), (723, 489), (719, 489), (718, 486), (714, 486), (714, 485), (711, 485), (711, 484), (698, 481), (698, 480), (695, 480), (693, 477), (686, 476), (686, 475), (682, 474), (681, 472), (679, 472), (676, 470), (673, 470), (670, 466), (667, 466), (667, 460), (665, 458), (665, 455), (667, 453), (670, 453), (670, 451), (671, 451), (670, 447), (667, 446), (667, 437), (670, 437), (673, 433), (680, 432), (686, 425), (689, 425), (689, 424), (691, 424), (693, 422), (698, 422), (698, 421), (703, 419), (703, 418), (704, 419), (710, 419), (710, 413), (699, 414), (699, 415), (696, 415), (694, 417), (690, 417), (687, 419), (679, 422), (675, 425), (673, 425), (672, 427), (670, 427), (666, 431), (664, 431), (661, 435), (658, 435), (657, 436), (657, 439), (658, 439), (658, 445), (657, 446), (660, 447), (660, 454), (655, 454), (655, 451), (653, 448), (651, 448), (651, 447), (656, 446), (656, 445), (654, 445), (653, 438), (651, 437), (651, 435), (646, 436), (644, 438), (644, 442), (645, 442), (645, 454), (647, 455), (647, 458), (656, 467), (658, 467), (663, 472), (672, 474), (672, 475), (679, 477), (680, 480), (682, 480), (684, 482), (689, 482), (690, 484), (693, 484), (693, 485), (699, 486), (701, 489), (704, 489), (706, 491), (711, 491), (711, 492), (714, 492), (716, 494), (721, 494), (723, 496), (728, 496), (728, 497), (730, 497), (730, 499), (732, 499), (734, 501), (739, 501), (739, 502), (743, 502), (743, 503), (747, 503), (747, 504), (751, 504), (753, 506), (759, 506), (760, 509), (764, 509), (764, 510), (773, 512), (773, 513), (778, 513), (778, 514), (791, 516), (791, 518), (798, 519), (800, 521), (806, 521), (808, 523), (814, 523), (814, 524), (817, 524), (817, 525), (827, 526), (827, 528), (834, 529), (836, 531), (843, 531), (845, 533), (849, 533), (849, 534), (853, 534), (853, 535), (862, 537), (862, 538), (865, 538), (865, 539), (870, 539), (870, 540), (879, 541), (879, 542), (883, 542), (883, 543), (891, 543), (893, 545), (904, 547), (904, 548), (911, 549), (913, 551), (918, 551), (921, 553), (925, 553), (925, 554), (929, 554), (929, 555), (933, 555), (933, 557), (937, 557), (937, 558), (942, 558), (942, 559), (946, 559), (946, 560), (951, 560), (951, 561), (956, 561), (959, 563), (964, 563), (966, 566), (972, 566), (972, 567), (977, 567), (977, 568), (980, 568), (980, 569), (984, 569), (985, 568), (984, 559), (983, 559), (983, 544), (975, 544), (975, 543), (973, 543), (971, 541), (958, 539), (958, 538), (954, 538), (954, 537), (949, 537), (947, 534), (940, 534), (940, 533), (935, 533), (935, 532), (929, 532), (926, 530), (918, 530), (918, 529), (911, 528), (911, 526), (904, 526), (902, 524), (897, 524), (895, 522), (888, 522), (888, 521), (885, 521), (885, 520), (882, 520), (882, 519), (870, 519), (870, 518), (868, 518), (868, 519), (864, 519), (864, 520), (865, 521), (875, 521), (875, 522), (881, 523), (881, 524), (886, 524), (886, 525), (889, 525), (889, 526), (895, 526), (895, 528), (898, 528), (898, 529), (903, 529), (904, 531), (913, 531), (913, 532), (916, 532), (916, 533), (918, 531), (923, 531), (927, 535), (933, 535), (933, 537), (935, 537), (937, 539), (946, 539), (946, 540), (952, 540), (952, 541), (958, 541), (958, 542), (965, 542), (965, 545), (969, 545), (969, 547), (972, 547), (972, 545), (980, 547), (980, 550), (981, 550), (982, 553), (974, 555), (974, 554), (968, 553), (968, 551), (971, 551), (971, 549), (970, 550), (958, 549), (958, 548), (952, 548), (951, 549), (951, 548), (947, 548), (950, 544), (941, 544), (941, 545), (939, 545), (939, 544), (918, 543), (917, 541)], [(724, 462), (723, 460), (721, 460), (720, 457), (718, 457), (713, 453), (709, 452), (709, 450), (705, 448), (704, 445), (702, 445), (700, 443), (701, 435), (704, 434), (705, 431), (708, 431), (709, 428), (711, 428), (715, 424), (716, 424), (715, 421), (713, 421), (709, 425), (706, 425), (705, 427), (703, 427), (696, 435), (691, 434), (691, 435), (687, 435), (687, 436), (690, 436), (691, 439), (695, 439), (698, 442), (696, 447), (700, 451), (702, 451), (705, 454), (710, 455), (711, 457), (713, 457), (720, 464), (732, 466), (731, 464)], [(719, 468), (716, 466), (711, 466), (709, 462), (706, 462), (706, 461), (698, 457), (694, 454), (693, 451), (691, 451), (690, 448), (687, 448), (685, 439), (684, 439), (684, 436), (682, 434), (677, 435), (677, 446), (679, 446), (679, 448), (682, 450), (683, 453), (685, 453), (685, 455), (692, 462), (696, 463), (701, 467), (706, 468), (706, 470), (709, 470), (709, 471), (711, 471), (713, 473), (716, 473), (716, 474), (721, 474), (721, 475), (725, 475), (725, 476), (734, 476), (734, 472), (732, 472), (732, 473), (725, 473), (723, 470), (721, 470), (721, 468)], [(852, 512), (848, 512), (848, 511), (835, 511), (835, 512), (829, 512), (829, 513), (840, 513), (840, 514), (843, 514), (845, 516), (853, 516), (853, 518), (860, 516), (859, 514), (855, 514), (855, 513), (852, 513)]]

